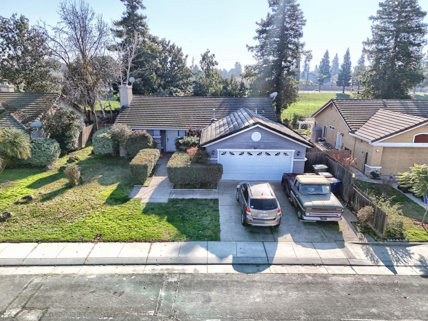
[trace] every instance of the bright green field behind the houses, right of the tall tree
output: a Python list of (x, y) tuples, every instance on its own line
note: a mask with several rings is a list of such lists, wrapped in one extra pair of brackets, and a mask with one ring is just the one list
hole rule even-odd
[(299, 93), (299, 101), (282, 111), (282, 119), (290, 119), (294, 113), (308, 114), (308, 117), (324, 106), (332, 98), (350, 98), (350, 94), (342, 93)]

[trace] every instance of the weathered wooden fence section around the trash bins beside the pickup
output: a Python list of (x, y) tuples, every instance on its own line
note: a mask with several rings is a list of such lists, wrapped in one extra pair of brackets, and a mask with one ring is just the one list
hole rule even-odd
[[(310, 173), (313, 171), (312, 165), (324, 164), (328, 167), (328, 172), (331, 173), (334, 177), (342, 181), (342, 184), (339, 186), (339, 194), (342, 198), (349, 202), (349, 197), (351, 193), (351, 185), (353, 184), (354, 178), (353, 174), (348, 171), (345, 167), (339, 164), (339, 162), (330, 156), (330, 153), (340, 153), (346, 156), (349, 156), (349, 150), (328, 150), (326, 152), (319, 153), (306, 153), (306, 158), (308, 159), (305, 162), (305, 172)], [(342, 155), (341, 155), (342, 156)]]

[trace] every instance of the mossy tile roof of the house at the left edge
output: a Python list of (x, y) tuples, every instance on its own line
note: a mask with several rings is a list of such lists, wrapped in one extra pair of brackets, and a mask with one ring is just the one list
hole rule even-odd
[[(7, 110), (0, 111), (0, 127), (14, 126), (22, 129), (22, 125), (32, 122), (42, 113), (40, 103), (45, 99), (56, 100), (57, 93), (3, 93), (0, 92), (0, 102), (6, 102)], [(10, 111), (19, 112), (19, 121), (11, 116)]]

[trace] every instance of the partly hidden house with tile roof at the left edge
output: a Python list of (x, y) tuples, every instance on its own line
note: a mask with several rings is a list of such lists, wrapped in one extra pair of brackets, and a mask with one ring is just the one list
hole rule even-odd
[(30, 124), (42, 119), (41, 104), (46, 100), (78, 112), (82, 115), (81, 123), (84, 123), (83, 110), (65, 102), (59, 93), (14, 92), (14, 86), (5, 81), (0, 84), (0, 127), (15, 127), (28, 132), (31, 138), (39, 137), (42, 135), (40, 128), (31, 128)]

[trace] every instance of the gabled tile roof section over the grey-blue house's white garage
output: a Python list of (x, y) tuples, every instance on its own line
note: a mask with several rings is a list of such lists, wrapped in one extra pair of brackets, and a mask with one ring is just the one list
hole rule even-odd
[(203, 146), (205, 144), (212, 143), (213, 141), (217, 141), (220, 138), (227, 137), (256, 124), (260, 124), (274, 132), (287, 136), (288, 138), (303, 143), (309, 147), (314, 147), (312, 143), (287, 126), (263, 117), (260, 114), (256, 114), (248, 108), (239, 108), (237, 111), (234, 111), (226, 117), (223, 117), (212, 123), (210, 126), (204, 128), (202, 130), (200, 144)]

